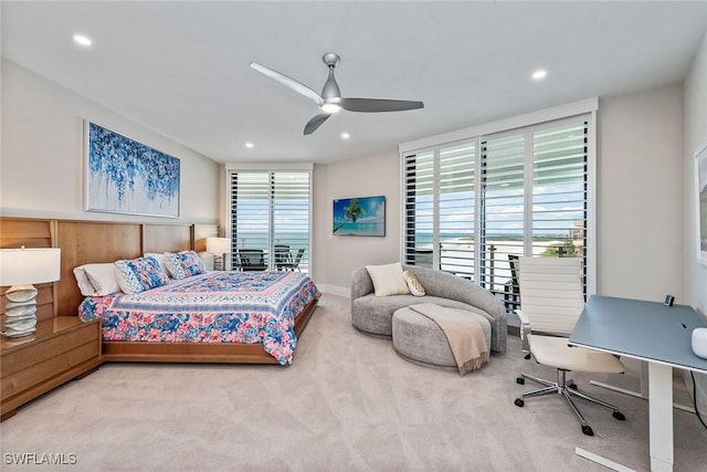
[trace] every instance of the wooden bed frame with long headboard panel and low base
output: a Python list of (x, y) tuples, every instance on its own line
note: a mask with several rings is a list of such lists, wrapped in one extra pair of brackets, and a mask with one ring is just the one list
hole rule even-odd
[[(146, 252), (203, 251), (204, 239), (218, 235), (214, 224), (147, 224), (68, 220), (0, 219), (3, 241), (27, 240), (27, 227), (49, 228), (46, 238), (28, 247), (56, 247), (62, 250), (61, 279), (54, 283), (54, 315), (77, 316), (83, 296), (73, 269), (87, 263), (134, 259)], [(4, 248), (17, 247), (4, 243)], [(295, 319), (295, 334), (302, 335), (317, 301), (309, 303)], [(261, 344), (238, 343), (130, 343), (104, 342), (106, 361), (278, 364)]]

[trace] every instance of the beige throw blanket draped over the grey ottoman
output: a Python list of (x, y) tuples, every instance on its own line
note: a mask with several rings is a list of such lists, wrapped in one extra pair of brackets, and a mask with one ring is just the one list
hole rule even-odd
[(410, 305), (410, 308), (432, 319), (442, 328), (461, 376), (481, 368), (488, 360), (484, 329), (464, 312), (434, 303), (419, 303)]

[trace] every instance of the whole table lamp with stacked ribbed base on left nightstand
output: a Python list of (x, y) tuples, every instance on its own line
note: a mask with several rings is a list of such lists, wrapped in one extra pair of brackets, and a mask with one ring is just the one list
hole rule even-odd
[(61, 249), (0, 249), (0, 286), (10, 286), (3, 335), (27, 336), (36, 329), (36, 289), (33, 283), (59, 280)]

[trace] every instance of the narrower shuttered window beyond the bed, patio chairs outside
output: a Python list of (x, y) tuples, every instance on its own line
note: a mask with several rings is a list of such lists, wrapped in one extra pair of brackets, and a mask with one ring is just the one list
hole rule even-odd
[(310, 171), (229, 171), (232, 265), (309, 272)]

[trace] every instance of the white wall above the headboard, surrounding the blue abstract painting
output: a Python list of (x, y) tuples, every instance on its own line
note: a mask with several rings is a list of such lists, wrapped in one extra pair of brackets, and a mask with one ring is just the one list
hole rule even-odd
[[(180, 159), (179, 219), (83, 211), (84, 119)], [(217, 162), (4, 59), (1, 149), (3, 216), (165, 223), (219, 218)]]

